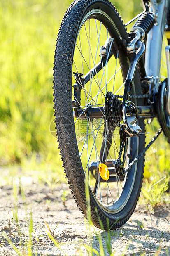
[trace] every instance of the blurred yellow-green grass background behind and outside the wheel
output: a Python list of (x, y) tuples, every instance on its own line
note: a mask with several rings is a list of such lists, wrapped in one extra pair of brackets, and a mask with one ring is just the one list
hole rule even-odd
[[(3, 178), (26, 173), (38, 175), (40, 180), (65, 180), (56, 138), (49, 127), (54, 128), (56, 38), (71, 2), (0, 1), (0, 184)], [(123, 6), (119, 0), (111, 2), (124, 23), (142, 11), (140, 0), (124, 0)], [(169, 175), (169, 155), (169, 145), (161, 135), (147, 153), (146, 176)]]

